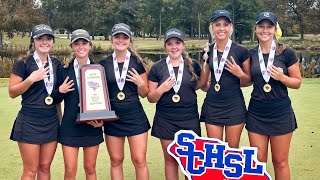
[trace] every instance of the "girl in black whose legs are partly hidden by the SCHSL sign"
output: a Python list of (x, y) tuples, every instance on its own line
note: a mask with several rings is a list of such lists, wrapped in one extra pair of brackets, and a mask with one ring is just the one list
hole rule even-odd
[(179, 179), (178, 163), (167, 147), (179, 130), (192, 130), (201, 136), (195, 92), (201, 68), (184, 51), (180, 30), (166, 32), (164, 47), (168, 57), (154, 63), (149, 73), (148, 100), (157, 103), (151, 135), (160, 139), (166, 179)]

